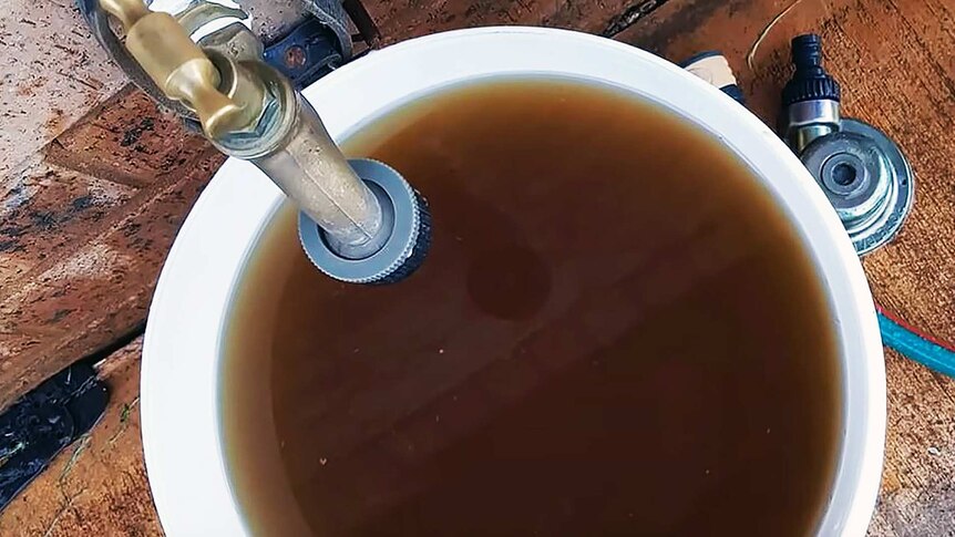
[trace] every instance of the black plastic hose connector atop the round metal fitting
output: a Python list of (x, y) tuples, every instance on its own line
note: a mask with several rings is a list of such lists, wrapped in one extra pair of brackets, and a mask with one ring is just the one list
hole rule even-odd
[(803, 101), (839, 102), (839, 82), (822, 66), (822, 38), (814, 33), (793, 38), (792, 63), (795, 72), (782, 90), (783, 106)]

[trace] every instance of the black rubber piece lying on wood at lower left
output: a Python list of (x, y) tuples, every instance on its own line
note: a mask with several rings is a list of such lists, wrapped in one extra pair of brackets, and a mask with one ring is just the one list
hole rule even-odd
[(100, 421), (109, 401), (93, 366), (79, 362), (0, 414), (0, 510)]

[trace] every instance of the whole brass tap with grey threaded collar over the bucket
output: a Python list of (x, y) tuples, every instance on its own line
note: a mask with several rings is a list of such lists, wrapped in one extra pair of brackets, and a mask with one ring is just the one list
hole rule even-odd
[(298, 205), (299, 236), (316, 267), (342, 281), (381, 283), (421, 265), (431, 240), (423, 198), (384, 164), (349, 162), (287, 78), (258, 58), (202, 49), (143, 0), (99, 2), (122, 22), (126, 49), (160, 91), (195, 112), (218, 149), (255, 164)]

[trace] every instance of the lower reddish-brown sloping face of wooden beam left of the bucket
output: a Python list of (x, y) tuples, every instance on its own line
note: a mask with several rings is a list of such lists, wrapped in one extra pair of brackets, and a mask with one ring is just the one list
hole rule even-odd
[[(213, 149), (134, 196), (81, 248), (47, 259), (0, 290), (0, 405), (142, 323), (186, 208), (223, 162)], [(20, 341), (28, 338), (28, 347)], [(4, 341), (19, 349), (4, 348)]]

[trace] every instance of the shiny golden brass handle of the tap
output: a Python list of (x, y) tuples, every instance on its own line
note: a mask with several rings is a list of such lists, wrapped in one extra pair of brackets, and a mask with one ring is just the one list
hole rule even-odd
[(195, 111), (210, 138), (246, 128), (261, 102), (237, 103), (219, 91), (219, 72), (168, 13), (150, 11), (142, 0), (100, 0), (126, 31), (126, 49), (170, 97)]

